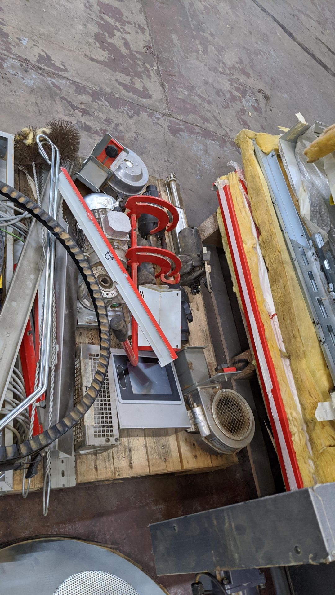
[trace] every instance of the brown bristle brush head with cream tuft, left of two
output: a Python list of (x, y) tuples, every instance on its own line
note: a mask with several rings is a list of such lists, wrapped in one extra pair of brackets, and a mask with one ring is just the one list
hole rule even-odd
[(36, 164), (36, 167), (45, 163), (38, 150), (35, 131), (35, 126), (27, 126), (14, 136), (14, 163), (30, 176), (33, 174), (33, 163)]

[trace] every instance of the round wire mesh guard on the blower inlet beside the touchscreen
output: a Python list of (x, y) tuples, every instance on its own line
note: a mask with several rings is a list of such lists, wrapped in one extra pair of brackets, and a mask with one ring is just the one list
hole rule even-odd
[(252, 420), (246, 403), (232, 390), (219, 390), (213, 399), (213, 418), (220, 430), (233, 440), (243, 440), (250, 431)]

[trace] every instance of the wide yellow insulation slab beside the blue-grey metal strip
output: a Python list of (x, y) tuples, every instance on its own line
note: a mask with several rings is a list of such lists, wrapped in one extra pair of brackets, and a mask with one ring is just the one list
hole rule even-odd
[[(268, 270), (278, 322), (311, 444), (314, 483), (327, 483), (335, 481), (335, 425), (332, 421), (317, 421), (315, 410), (318, 402), (330, 399), (329, 391), (333, 383), (294, 274), (268, 186), (255, 158), (252, 140), (257, 139), (257, 136), (251, 130), (241, 130), (235, 142), (241, 149), (253, 220), (260, 231), (259, 245)], [(304, 484), (308, 486), (310, 480), (303, 440), (300, 449), (296, 445), (296, 437), (302, 437), (301, 420), (289, 392), (282, 393), (282, 396), (297, 461)]]

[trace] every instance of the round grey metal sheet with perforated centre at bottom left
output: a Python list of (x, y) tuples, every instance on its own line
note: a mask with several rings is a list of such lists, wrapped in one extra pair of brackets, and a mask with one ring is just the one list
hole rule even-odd
[(165, 589), (108, 546), (57, 537), (0, 549), (1, 595), (162, 595)]

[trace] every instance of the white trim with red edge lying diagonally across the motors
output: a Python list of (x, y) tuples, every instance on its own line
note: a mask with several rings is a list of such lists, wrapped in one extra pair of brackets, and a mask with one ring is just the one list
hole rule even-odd
[(135, 287), (117, 253), (110, 245), (110, 242), (108, 242), (107, 237), (86, 205), (69, 173), (64, 168), (61, 168), (58, 177), (58, 187), (64, 201), (66, 201), (70, 210), (73, 212), (79, 226), (82, 228), (85, 236), (88, 237), (92, 248), (99, 256), (104, 268), (106, 268), (108, 275), (117, 283), (117, 289), (120, 295), (122, 295), (126, 305), (137, 320), (145, 339), (150, 343), (159, 359), (160, 365), (166, 366), (173, 359), (177, 358), (176, 353), (148, 309), (147, 304), (141, 295), (139, 295), (137, 287)]

